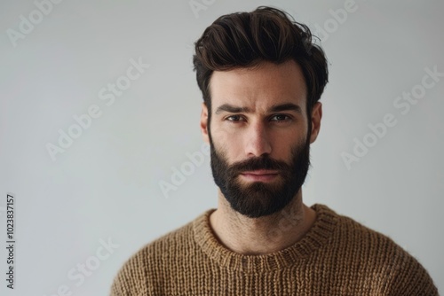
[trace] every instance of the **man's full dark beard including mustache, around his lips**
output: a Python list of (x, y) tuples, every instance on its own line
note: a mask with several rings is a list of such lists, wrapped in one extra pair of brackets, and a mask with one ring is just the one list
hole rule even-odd
[[(310, 129), (309, 129), (310, 130)], [(226, 153), (214, 146), (210, 136), (210, 164), (214, 182), (234, 211), (258, 218), (281, 211), (289, 204), (305, 182), (310, 167), (310, 133), (305, 143), (291, 147), (289, 163), (274, 160), (268, 154), (228, 164)], [(242, 183), (242, 172), (270, 169), (278, 172), (272, 183)]]

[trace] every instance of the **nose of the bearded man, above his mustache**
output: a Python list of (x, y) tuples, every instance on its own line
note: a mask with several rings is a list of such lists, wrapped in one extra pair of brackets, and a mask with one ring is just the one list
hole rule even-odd
[(259, 157), (272, 152), (272, 145), (263, 122), (251, 122), (247, 130), (245, 149), (247, 156)]

